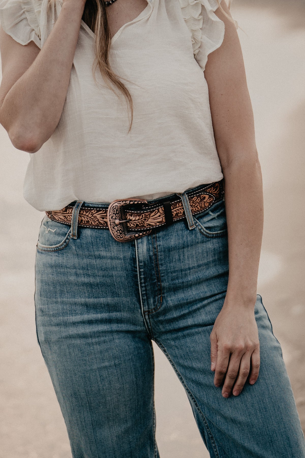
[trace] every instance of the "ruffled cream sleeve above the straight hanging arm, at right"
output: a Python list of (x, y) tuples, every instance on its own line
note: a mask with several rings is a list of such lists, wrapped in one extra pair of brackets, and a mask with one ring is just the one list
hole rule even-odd
[(179, 0), (185, 23), (190, 31), (194, 58), (204, 70), (208, 55), (222, 44), (225, 24), (214, 13), (217, 0)]

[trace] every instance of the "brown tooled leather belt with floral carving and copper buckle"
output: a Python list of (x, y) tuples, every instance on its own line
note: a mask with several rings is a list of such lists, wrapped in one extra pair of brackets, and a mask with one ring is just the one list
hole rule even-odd
[[(183, 193), (172, 194), (155, 203), (145, 199), (115, 200), (107, 208), (80, 207), (78, 226), (84, 228), (109, 229), (118, 241), (134, 240), (150, 234), (153, 228), (166, 227), (186, 218)], [(207, 210), (224, 195), (223, 180), (202, 185), (195, 191), (185, 191), (193, 215)], [(178, 198), (177, 198), (178, 196)], [(48, 218), (63, 224), (71, 224), (74, 206), (45, 212)]]

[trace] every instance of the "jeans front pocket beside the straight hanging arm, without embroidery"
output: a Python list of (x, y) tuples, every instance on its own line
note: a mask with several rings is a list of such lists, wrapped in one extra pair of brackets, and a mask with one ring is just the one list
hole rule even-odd
[(208, 210), (193, 215), (197, 229), (206, 237), (221, 237), (227, 234), (225, 201), (214, 203)]

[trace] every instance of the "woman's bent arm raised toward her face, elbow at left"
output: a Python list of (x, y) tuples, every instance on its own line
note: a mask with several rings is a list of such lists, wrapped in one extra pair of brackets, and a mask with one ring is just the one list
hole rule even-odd
[(0, 123), (12, 144), (36, 153), (59, 123), (85, 0), (65, 0), (43, 48), (17, 43), (0, 28)]

